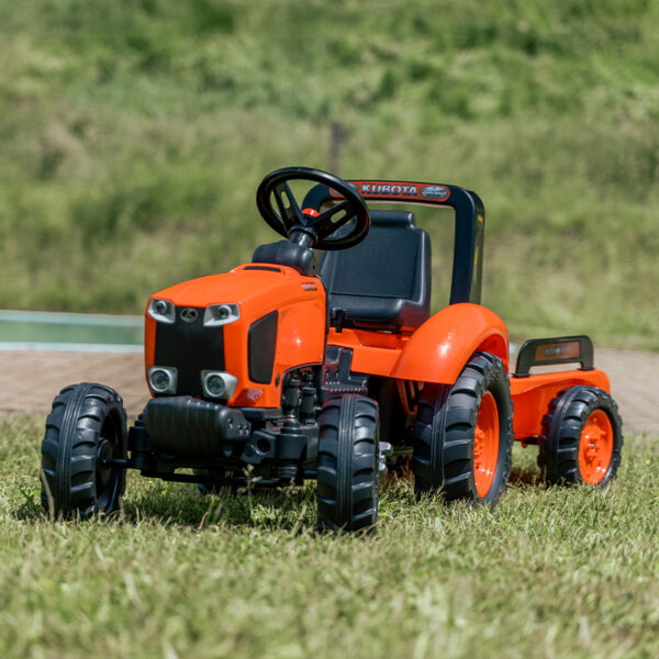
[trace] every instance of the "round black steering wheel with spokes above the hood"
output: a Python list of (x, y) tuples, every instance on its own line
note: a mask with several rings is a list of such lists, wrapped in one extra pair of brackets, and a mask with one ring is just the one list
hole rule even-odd
[[(327, 186), (327, 197), (337, 198), (339, 203), (322, 213), (315, 208), (300, 210), (289, 187), (289, 181), (293, 180)], [(273, 208), (272, 198), (279, 212)], [(370, 227), (368, 208), (361, 194), (343, 179), (321, 169), (284, 167), (271, 171), (256, 191), (256, 205), (264, 220), (278, 234), (319, 249), (353, 247), (366, 237)], [(347, 226), (350, 222), (351, 225)], [(338, 231), (342, 227), (346, 228)]]

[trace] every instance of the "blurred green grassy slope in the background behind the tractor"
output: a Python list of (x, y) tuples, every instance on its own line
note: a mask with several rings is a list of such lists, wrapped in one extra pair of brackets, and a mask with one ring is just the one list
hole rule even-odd
[(4, 0), (0, 306), (139, 313), (248, 260), (261, 177), (328, 168), (342, 122), (339, 176), (479, 192), (515, 337), (659, 349), (657, 25), (652, 0)]

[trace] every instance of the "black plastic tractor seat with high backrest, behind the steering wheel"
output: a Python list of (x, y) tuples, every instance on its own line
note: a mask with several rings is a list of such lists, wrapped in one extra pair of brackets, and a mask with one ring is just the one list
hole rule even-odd
[(431, 242), (414, 213), (371, 211), (366, 238), (355, 247), (326, 252), (321, 279), (333, 324), (411, 331), (429, 316)]

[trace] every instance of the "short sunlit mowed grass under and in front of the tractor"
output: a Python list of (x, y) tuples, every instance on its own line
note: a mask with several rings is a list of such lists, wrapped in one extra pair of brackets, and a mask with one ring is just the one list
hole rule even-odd
[(656, 657), (656, 438), (606, 490), (516, 449), (494, 510), (383, 487), (375, 536), (314, 530), (313, 487), (201, 496), (131, 476), (122, 516), (40, 512), (44, 418), (0, 417), (0, 656)]

